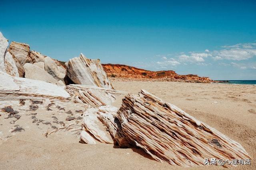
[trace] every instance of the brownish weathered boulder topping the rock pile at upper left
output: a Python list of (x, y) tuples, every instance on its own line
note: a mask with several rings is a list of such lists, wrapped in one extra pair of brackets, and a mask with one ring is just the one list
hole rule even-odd
[(30, 58), (30, 47), (25, 43), (17, 43), (12, 41), (8, 51), (19, 61), (21, 65), (25, 63), (34, 63)]

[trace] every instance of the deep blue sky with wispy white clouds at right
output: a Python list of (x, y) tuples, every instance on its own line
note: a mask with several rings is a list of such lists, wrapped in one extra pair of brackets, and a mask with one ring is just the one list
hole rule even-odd
[(10, 41), (68, 61), (175, 70), (214, 80), (256, 80), (256, 1), (1, 0)]

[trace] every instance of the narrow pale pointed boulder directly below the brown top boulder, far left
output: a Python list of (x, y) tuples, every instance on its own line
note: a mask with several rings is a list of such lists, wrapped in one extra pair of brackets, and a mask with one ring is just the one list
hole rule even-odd
[(9, 51), (6, 52), (6, 55), (4, 57), (4, 64), (5, 64), (6, 73), (10, 74), (11, 76), (16, 76), (16, 77), (20, 76), (18, 68), (16, 66), (16, 62), (14, 61)]

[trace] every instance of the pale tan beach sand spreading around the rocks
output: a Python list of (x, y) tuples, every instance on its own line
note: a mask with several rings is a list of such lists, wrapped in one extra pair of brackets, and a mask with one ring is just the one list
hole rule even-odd
[[(252, 157), (250, 166), (238, 166), (235, 169), (256, 169), (256, 86), (118, 81), (112, 82), (112, 84), (117, 90), (134, 94), (138, 93), (140, 89), (148, 90), (163, 100), (180, 107), (196, 119), (208, 123), (242, 144)], [(121, 103), (122, 96), (117, 98), (114, 106), (119, 107)], [(63, 107), (68, 110), (69, 106)], [(0, 117), (1, 119), (3, 116)], [(22, 119), (18, 121), (22, 121)], [(26, 121), (30, 122), (31, 120)], [(28, 123), (28, 125), (30, 124)], [(44, 130), (44, 126), (46, 125), (40, 126), (42, 130)], [(35, 127), (35, 129), (31, 130), (31, 127)], [(206, 168), (205, 166), (193, 168), (170, 166), (165, 162), (152, 160), (150, 156), (139, 149), (116, 149), (113, 145), (107, 144), (78, 143), (74, 135), (65, 132), (56, 133), (46, 138), (43, 131), (36, 129), (36, 125), (31, 125), (31, 127), (30, 130), (24, 127), (25, 131), (16, 132), (16, 135), (6, 141), (0, 140), (0, 169), (203, 170)], [(4, 129), (3, 124), (0, 125), (0, 131), (2, 129)], [(207, 168), (221, 169), (222, 167), (208, 166)]]

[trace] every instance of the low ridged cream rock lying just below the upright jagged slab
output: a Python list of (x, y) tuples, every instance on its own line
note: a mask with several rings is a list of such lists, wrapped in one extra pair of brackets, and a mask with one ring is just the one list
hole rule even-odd
[(70, 84), (66, 86), (66, 91), (76, 103), (89, 104), (92, 107), (111, 105), (116, 100), (115, 96), (123, 94), (113, 89), (80, 84)]

